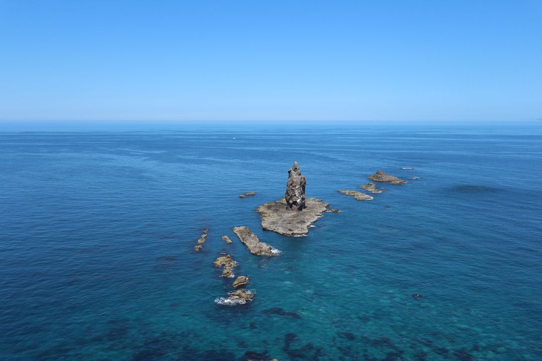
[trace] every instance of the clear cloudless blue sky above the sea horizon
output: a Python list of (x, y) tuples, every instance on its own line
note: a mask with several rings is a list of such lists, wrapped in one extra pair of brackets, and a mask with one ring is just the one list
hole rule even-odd
[(0, 120), (542, 118), (542, 0), (0, 0)]

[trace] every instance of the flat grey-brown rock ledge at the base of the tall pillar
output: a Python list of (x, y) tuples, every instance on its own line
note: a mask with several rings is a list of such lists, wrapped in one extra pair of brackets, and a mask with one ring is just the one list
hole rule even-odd
[(308, 233), (308, 228), (327, 210), (328, 203), (318, 198), (306, 198), (301, 212), (290, 211), (284, 198), (268, 202), (256, 209), (262, 215), (262, 228), (288, 236)]

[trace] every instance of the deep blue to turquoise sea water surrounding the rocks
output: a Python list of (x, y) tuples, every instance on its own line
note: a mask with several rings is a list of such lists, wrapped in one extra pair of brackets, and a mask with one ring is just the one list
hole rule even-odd
[[(293, 161), (342, 211), (307, 237), (254, 212)], [(408, 183), (337, 192), (377, 169)], [(4, 129), (0, 359), (542, 360), (541, 234), (540, 128)], [(220, 252), (251, 303), (215, 303)]]

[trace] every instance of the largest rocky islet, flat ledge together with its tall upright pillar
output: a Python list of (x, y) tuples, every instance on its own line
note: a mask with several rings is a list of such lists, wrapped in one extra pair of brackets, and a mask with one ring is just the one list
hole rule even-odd
[(262, 228), (288, 236), (301, 236), (327, 211), (329, 204), (318, 198), (306, 198), (307, 180), (297, 162), (288, 170), (285, 197), (256, 208)]

